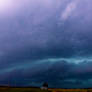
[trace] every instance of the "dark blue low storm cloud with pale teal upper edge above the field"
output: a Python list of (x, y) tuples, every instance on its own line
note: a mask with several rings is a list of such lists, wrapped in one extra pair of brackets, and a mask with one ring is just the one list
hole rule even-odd
[[(90, 87), (92, 80), (92, 62), (84, 61), (79, 64), (69, 63), (67, 61), (43, 61), (33, 63), (31, 66), (11, 69), (11, 71), (2, 72), (1, 83), (8, 85), (9, 79), (11, 85), (16, 81), (17, 86), (39, 86), (44, 81), (49, 83), (49, 87), (61, 88), (84, 88)], [(54, 80), (54, 81), (53, 81)], [(71, 84), (71, 85), (70, 85)]]

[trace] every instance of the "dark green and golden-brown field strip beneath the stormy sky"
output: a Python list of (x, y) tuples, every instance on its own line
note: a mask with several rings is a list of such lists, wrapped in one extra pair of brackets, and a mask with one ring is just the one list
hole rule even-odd
[(0, 87), (0, 92), (92, 92), (92, 89), (48, 89)]

